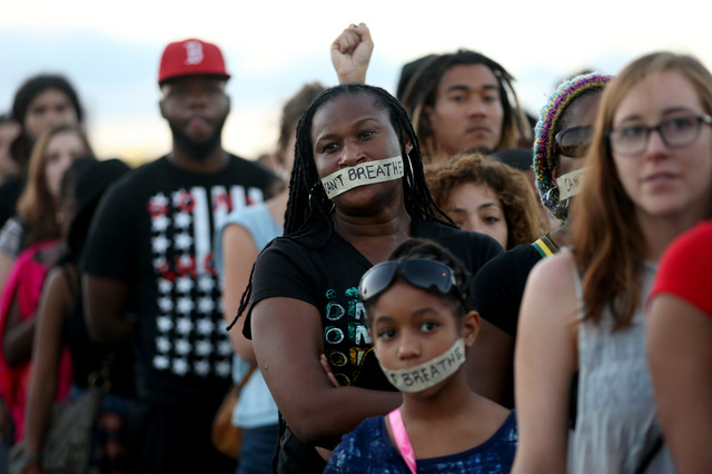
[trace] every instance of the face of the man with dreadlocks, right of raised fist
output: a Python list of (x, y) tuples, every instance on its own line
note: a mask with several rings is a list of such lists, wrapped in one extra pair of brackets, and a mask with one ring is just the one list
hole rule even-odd
[(437, 154), (496, 149), (504, 109), (500, 82), (484, 65), (459, 65), (443, 75), (435, 105), (426, 107)]

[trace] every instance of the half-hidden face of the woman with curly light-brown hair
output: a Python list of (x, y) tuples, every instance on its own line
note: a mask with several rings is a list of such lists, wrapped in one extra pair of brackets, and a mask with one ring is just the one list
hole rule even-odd
[(502, 201), (484, 182), (465, 182), (455, 187), (443, 210), (465, 230), (486, 234), (507, 247), (507, 220)]

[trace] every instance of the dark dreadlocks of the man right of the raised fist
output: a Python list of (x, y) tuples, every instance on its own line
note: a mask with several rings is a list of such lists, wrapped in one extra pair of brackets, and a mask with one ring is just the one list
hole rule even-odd
[(512, 86), (514, 77), (502, 65), (486, 56), (476, 51), (459, 49), (453, 53), (428, 58), (413, 73), (407, 86), (403, 88), (402, 101), (413, 120), (416, 134), (421, 137), (423, 150), (428, 161), (435, 156), (436, 137), (428, 125), (425, 108), (435, 106), (437, 88), (447, 71), (455, 66), (475, 65), (483, 65), (490, 69), (500, 87), (500, 100), (502, 101), (504, 116), (502, 118), (502, 136), (493, 151), (516, 148), (522, 140), (531, 142), (532, 132), (528, 120)]

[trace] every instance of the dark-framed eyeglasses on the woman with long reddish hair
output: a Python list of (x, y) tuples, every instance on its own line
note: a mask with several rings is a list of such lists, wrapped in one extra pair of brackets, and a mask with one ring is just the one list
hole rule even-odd
[(698, 139), (703, 122), (711, 125), (712, 117), (706, 113), (683, 113), (666, 118), (653, 127), (635, 124), (614, 128), (609, 131), (609, 140), (614, 151), (631, 157), (637, 156), (645, 150), (650, 134), (655, 130), (666, 146), (680, 148)]

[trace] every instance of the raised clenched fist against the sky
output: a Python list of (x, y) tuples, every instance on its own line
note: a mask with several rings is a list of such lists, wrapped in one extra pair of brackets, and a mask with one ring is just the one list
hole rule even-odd
[(332, 43), (332, 63), (338, 83), (366, 82), (374, 41), (366, 23), (350, 24)]

